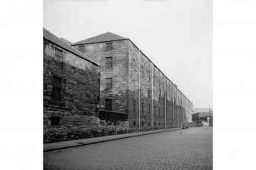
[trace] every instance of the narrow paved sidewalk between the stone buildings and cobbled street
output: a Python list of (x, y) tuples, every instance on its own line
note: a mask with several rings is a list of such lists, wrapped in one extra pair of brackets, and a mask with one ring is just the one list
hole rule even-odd
[(171, 129), (165, 129), (165, 130), (151, 130), (151, 131), (145, 131), (145, 132), (138, 132), (138, 133), (127, 133), (127, 134), (119, 134), (119, 135), (111, 135), (111, 136), (101, 136), (101, 137), (93, 137), (89, 139), (83, 139), (83, 140), (69, 140), (69, 141), (63, 141), (63, 142), (57, 142), (57, 143), (44, 143), (44, 152), (50, 152), (53, 150), (60, 150), (60, 149), (66, 149), (66, 148), (73, 148), (77, 146), (85, 146), (89, 144), (94, 143), (102, 143), (106, 141), (111, 140), (119, 140), (124, 139), (132, 136), (142, 136), (152, 133), (160, 133), (165, 132), (169, 130), (180, 130), (182, 127), (176, 127)]

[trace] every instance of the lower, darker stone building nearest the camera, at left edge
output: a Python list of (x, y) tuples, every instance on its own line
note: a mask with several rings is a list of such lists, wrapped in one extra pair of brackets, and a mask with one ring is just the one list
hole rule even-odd
[(97, 63), (44, 29), (44, 141), (89, 126), (86, 115), (98, 115), (99, 81)]

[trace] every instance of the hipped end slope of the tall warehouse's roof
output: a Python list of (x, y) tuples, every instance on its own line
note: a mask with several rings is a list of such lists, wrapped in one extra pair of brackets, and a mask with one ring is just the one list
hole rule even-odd
[(81, 40), (76, 43), (73, 43), (72, 45), (78, 45), (78, 44), (85, 44), (85, 43), (99, 43), (99, 42), (105, 42), (105, 41), (113, 41), (113, 40), (127, 40), (128, 38), (118, 36), (116, 34), (112, 34), (111, 32), (107, 32), (104, 34), (99, 34), (95, 37), (90, 37), (86, 40)]

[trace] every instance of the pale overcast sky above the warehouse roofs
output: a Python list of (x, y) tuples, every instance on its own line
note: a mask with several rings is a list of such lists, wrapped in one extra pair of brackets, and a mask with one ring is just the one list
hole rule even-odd
[(194, 107), (212, 107), (212, 0), (44, 0), (44, 27), (72, 43), (128, 37)]

